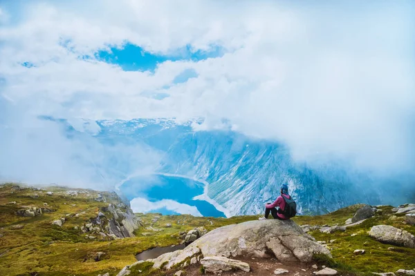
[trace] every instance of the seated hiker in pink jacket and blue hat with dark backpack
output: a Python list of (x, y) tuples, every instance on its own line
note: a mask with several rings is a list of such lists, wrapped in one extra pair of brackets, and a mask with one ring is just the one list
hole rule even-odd
[[(278, 210), (277, 207), (278, 206)], [(273, 204), (265, 204), (265, 217), (260, 217), (259, 220), (268, 219), (268, 216), (273, 215), (274, 219), (290, 219), (297, 213), (297, 204), (294, 199), (288, 195), (287, 184), (282, 184), (281, 195), (275, 199)]]

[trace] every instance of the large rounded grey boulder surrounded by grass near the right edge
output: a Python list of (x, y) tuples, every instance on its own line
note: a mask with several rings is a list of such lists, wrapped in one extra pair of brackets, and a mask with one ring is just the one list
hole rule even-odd
[(400, 230), (389, 225), (373, 226), (369, 231), (369, 236), (374, 237), (379, 242), (415, 248), (415, 236), (405, 230)]

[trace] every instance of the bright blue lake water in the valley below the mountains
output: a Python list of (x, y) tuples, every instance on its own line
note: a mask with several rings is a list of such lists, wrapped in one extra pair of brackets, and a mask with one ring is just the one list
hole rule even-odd
[[(120, 192), (129, 201), (136, 197), (143, 197), (149, 201), (172, 199), (182, 204), (196, 206), (203, 217), (225, 217), (208, 201), (193, 200), (196, 195), (203, 194), (203, 187), (203, 183), (191, 179), (152, 175), (151, 177), (136, 177), (124, 182), (120, 186)], [(166, 208), (151, 210), (151, 212), (177, 215), (174, 211)]]

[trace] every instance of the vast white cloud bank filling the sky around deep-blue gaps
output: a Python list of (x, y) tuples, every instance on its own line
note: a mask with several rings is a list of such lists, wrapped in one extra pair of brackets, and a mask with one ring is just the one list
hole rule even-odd
[[(2, 7), (10, 18), (0, 26), (0, 93), (13, 108), (0, 115), (23, 112), (23, 122), (39, 114), (207, 117), (201, 129), (222, 128), (227, 118), (246, 135), (286, 142), (295, 159), (413, 170), (413, 6), (123, 0)], [(227, 53), (167, 61), (154, 74), (78, 59), (124, 41), (164, 54), (187, 45)], [(172, 85), (187, 69), (198, 77)], [(158, 90), (169, 97), (146, 97)]]

